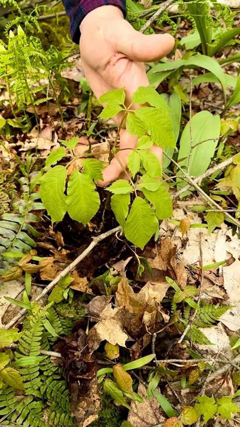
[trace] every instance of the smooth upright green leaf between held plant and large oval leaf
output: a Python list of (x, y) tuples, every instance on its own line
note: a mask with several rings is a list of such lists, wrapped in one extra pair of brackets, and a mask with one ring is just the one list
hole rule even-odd
[[(180, 95), (177, 91), (173, 91), (171, 95), (161, 94), (161, 97), (165, 99), (165, 102), (170, 108), (171, 119), (173, 123), (173, 133), (175, 137), (175, 142), (177, 142), (179, 137), (180, 123), (182, 117), (182, 101)], [(166, 147), (164, 152), (173, 157), (174, 148)], [(162, 158), (162, 168), (167, 168), (170, 164), (170, 160), (166, 156)]]

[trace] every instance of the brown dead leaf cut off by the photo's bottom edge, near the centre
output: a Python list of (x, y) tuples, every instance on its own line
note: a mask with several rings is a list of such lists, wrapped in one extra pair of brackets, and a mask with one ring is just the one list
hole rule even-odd
[(152, 425), (161, 425), (166, 421), (166, 417), (161, 407), (159, 407), (156, 398), (147, 400), (145, 386), (139, 383), (138, 394), (144, 399), (142, 403), (131, 402), (127, 421), (134, 427), (150, 427)]

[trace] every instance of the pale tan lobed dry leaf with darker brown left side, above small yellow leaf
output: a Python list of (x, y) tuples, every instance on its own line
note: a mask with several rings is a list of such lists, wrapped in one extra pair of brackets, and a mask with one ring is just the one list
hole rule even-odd
[(96, 350), (101, 341), (108, 341), (110, 344), (119, 344), (125, 347), (127, 334), (123, 330), (124, 321), (126, 319), (126, 310), (124, 307), (112, 309), (111, 304), (100, 314), (100, 321), (90, 329), (88, 335), (88, 346), (91, 352)]

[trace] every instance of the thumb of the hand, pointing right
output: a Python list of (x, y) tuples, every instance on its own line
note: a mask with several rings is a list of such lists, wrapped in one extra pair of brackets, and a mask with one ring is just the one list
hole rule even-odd
[(122, 22), (124, 27), (118, 37), (117, 50), (133, 61), (157, 61), (173, 49), (174, 38), (172, 35), (144, 35), (133, 29), (127, 21)]

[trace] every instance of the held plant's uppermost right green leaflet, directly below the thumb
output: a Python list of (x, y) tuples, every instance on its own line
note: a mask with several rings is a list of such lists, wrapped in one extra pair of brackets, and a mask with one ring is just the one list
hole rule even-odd
[(132, 96), (132, 101), (136, 104), (150, 104), (159, 109), (168, 109), (164, 99), (155, 91), (153, 86), (139, 86)]

